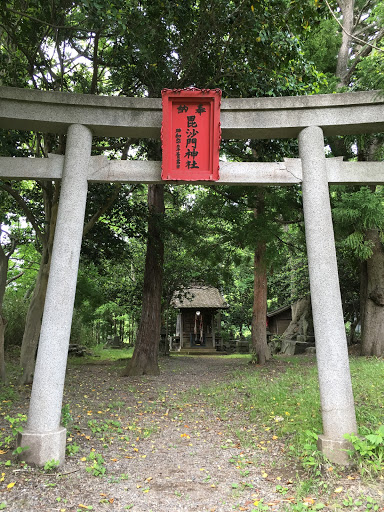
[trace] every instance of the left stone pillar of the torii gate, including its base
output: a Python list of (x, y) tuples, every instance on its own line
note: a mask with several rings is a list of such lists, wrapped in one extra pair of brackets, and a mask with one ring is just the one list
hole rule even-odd
[(60, 426), (68, 345), (87, 199), (92, 133), (79, 124), (68, 128), (65, 163), (51, 269), (37, 352), (26, 429), (18, 445), (22, 458), (40, 466), (64, 463), (66, 429)]

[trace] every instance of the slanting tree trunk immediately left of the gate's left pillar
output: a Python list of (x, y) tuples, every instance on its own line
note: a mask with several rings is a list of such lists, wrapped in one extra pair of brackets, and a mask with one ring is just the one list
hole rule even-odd
[(32, 299), (25, 321), (25, 329), (20, 352), (20, 366), (23, 369), (20, 384), (31, 384), (33, 381), (35, 356), (39, 343), (45, 295), (48, 285), (49, 268), (51, 264), (50, 255), (48, 259), (46, 255), (47, 249), (43, 251), (39, 273), (37, 274), (36, 285), (33, 290)]

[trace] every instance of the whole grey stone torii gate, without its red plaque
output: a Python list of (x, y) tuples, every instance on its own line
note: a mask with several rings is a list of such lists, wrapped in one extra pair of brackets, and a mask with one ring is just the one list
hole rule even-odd
[[(0, 127), (67, 133), (65, 156), (0, 158), (3, 179), (61, 179), (61, 195), (27, 426), (27, 462), (65, 458), (61, 405), (88, 182), (162, 183), (161, 162), (91, 157), (92, 135), (160, 138), (161, 100), (0, 88)], [(299, 139), (300, 159), (222, 162), (225, 185), (302, 185), (323, 435), (319, 448), (346, 463), (344, 434), (357, 431), (328, 183), (384, 183), (384, 163), (326, 159), (324, 135), (384, 131), (376, 92), (224, 99), (224, 139)], [(206, 183), (205, 183), (206, 184)]]

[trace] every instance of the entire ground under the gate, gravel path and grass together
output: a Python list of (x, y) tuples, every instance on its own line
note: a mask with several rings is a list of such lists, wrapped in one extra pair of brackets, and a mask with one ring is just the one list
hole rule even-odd
[(10, 368), (0, 393), (0, 510), (384, 510), (384, 360), (351, 358), (361, 437), (343, 468), (316, 449), (312, 357), (258, 367), (244, 355), (177, 356), (161, 359), (160, 377), (127, 379), (130, 351), (92, 352), (69, 361), (60, 470), (12, 454), (30, 390)]

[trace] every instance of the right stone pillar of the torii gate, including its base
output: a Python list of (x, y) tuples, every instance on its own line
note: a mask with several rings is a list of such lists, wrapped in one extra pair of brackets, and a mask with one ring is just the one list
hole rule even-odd
[(323, 435), (318, 447), (335, 463), (347, 464), (344, 435), (357, 432), (347, 339), (325, 165), (323, 131), (299, 135), (303, 169), (303, 209), (319, 372)]

